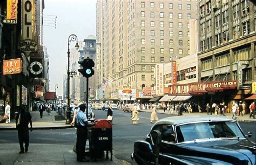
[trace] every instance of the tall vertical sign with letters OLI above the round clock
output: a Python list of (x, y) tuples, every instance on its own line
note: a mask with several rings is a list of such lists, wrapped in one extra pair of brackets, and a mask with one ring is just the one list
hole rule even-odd
[(35, 0), (22, 0), (22, 36), (20, 50), (29, 56), (37, 51), (35, 42)]

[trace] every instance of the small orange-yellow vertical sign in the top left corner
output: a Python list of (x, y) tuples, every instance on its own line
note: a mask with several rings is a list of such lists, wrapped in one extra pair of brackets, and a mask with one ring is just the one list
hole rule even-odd
[(7, 0), (5, 24), (17, 24), (17, 4), (18, 0)]

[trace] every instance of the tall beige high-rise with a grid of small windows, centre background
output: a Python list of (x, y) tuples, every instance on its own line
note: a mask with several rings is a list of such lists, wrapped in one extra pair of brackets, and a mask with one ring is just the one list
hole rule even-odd
[(104, 48), (100, 55), (105, 70), (100, 68), (99, 73), (112, 81), (105, 99), (119, 99), (118, 90), (125, 88), (153, 87), (156, 64), (190, 54), (190, 19), (197, 17), (196, 0), (98, 1), (96, 12), (97, 43)]

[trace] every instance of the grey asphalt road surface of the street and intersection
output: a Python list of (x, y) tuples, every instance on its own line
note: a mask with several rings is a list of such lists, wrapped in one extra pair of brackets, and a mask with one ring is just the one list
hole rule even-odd
[[(95, 110), (96, 119), (106, 119), (104, 111)], [(158, 114), (158, 118), (170, 116), (167, 114)], [(131, 113), (124, 113), (120, 110), (113, 112), (113, 152), (119, 160), (125, 160), (131, 164), (136, 164), (130, 159), (133, 152), (133, 143), (136, 140), (142, 140), (149, 133), (152, 126), (150, 123), (150, 113), (140, 112), (138, 125), (132, 125)], [(245, 134), (248, 131), (253, 133), (251, 141), (256, 141), (256, 123), (239, 122)], [(0, 130), (0, 143), (17, 143), (17, 130)], [(73, 145), (76, 139), (76, 129), (53, 129), (53, 130), (33, 130), (30, 133), (30, 143), (50, 143)], [(53, 153), (54, 154), (54, 153)]]

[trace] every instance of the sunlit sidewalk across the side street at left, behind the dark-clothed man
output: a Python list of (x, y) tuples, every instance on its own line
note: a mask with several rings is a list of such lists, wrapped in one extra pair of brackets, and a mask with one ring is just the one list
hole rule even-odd
[[(30, 114), (32, 116), (33, 129), (60, 129), (72, 127), (66, 125), (66, 120), (64, 118), (62, 119), (62, 116), (58, 115), (56, 111), (52, 111), (50, 115), (44, 111), (42, 119), (40, 118), (39, 111), (32, 111)], [(58, 120), (59, 118), (60, 120)], [(15, 120), (12, 119), (11, 123), (1, 122), (0, 130), (3, 129), (16, 129)]]

